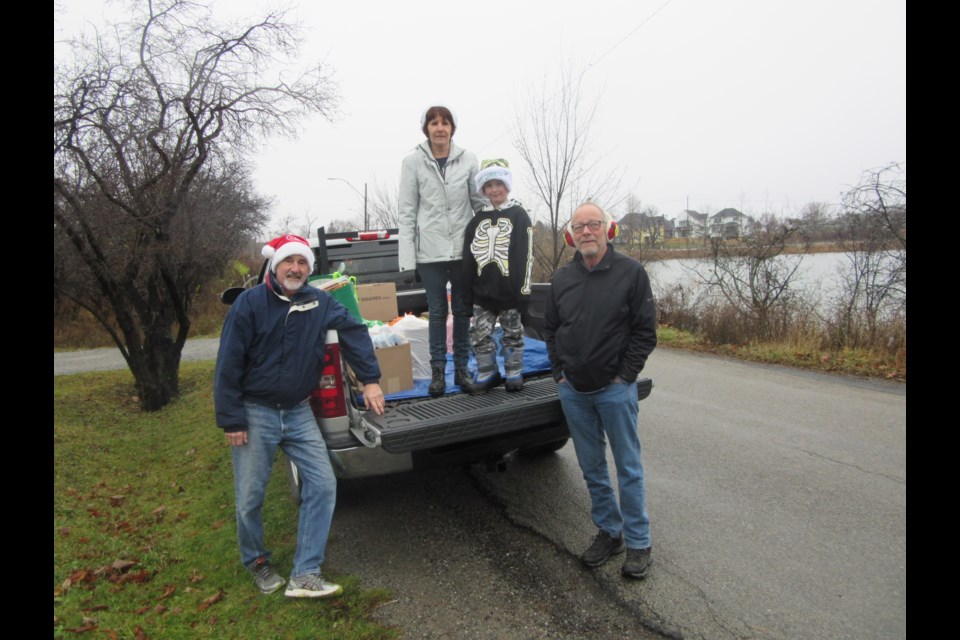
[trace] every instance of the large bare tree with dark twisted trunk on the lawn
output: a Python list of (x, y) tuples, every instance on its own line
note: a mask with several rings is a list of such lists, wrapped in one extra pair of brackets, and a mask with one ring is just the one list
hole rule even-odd
[(54, 250), (59, 275), (89, 276), (58, 288), (110, 331), (156, 410), (179, 393), (192, 296), (223, 267), (212, 247), (262, 222), (242, 152), (329, 117), (336, 96), (323, 66), (282, 70), (298, 48), (283, 13), (233, 31), (183, 0), (132, 11), (54, 65)]

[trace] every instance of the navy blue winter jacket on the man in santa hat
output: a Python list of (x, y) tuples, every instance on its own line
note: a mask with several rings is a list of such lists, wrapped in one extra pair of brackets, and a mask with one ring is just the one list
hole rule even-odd
[(320, 381), (329, 329), (339, 333), (357, 379), (380, 381), (362, 322), (325, 291), (304, 285), (288, 301), (271, 282), (240, 294), (223, 323), (213, 396), (224, 431), (246, 430), (244, 401), (291, 409), (306, 400)]

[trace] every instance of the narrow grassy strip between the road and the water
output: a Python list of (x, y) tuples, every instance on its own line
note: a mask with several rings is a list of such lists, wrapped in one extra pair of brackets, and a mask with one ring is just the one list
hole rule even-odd
[(890, 354), (870, 349), (825, 351), (806, 341), (745, 345), (715, 345), (689, 331), (669, 325), (657, 328), (657, 346), (731, 356), (741, 360), (779, 364), (812, 371), (907, 381), (906, 353)]

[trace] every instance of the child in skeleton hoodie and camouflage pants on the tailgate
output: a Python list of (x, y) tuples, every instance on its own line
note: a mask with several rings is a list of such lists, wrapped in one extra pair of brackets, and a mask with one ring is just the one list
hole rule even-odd
[(533, 225), (523, 206), (509, 197), (513, 173), (506, 160), (484, 160), (476, 176), (477, 191), (490, 204), (467, 224), (463, 240), (463, 297), (473, 309), (470, 343), (477, 377), (467, 386), (485, 393), (502, 382), (496, 343), (490, 335), (503, 327), (503, 368), (507, 391), (523, 388), (523, 325), (520, 315), (530, 302)]

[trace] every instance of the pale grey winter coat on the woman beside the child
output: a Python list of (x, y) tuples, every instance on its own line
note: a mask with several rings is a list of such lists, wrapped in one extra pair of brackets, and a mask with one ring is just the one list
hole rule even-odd
[(450, 143), (445, 178), (424, 140), (400, 169), (400, 270), (463, 257), (463, 232), (486, 199), (477, 193), (477, 158)]

